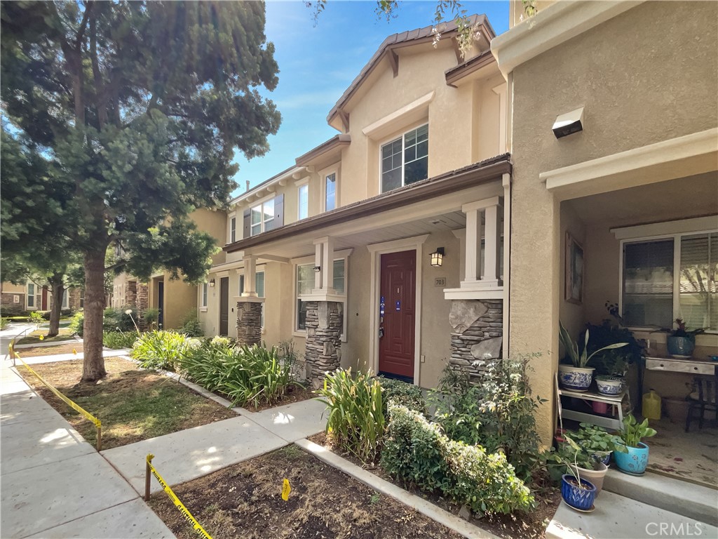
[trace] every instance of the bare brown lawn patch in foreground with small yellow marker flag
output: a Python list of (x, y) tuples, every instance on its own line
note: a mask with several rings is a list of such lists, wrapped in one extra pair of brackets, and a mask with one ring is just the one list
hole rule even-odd
[[(281, 499), (284, 478), (292, 487), (286, 502)], [(173, 490), (214, 539), (461, 537), (297, 446), (215, 471)], [(197, 537), (167, 494), (154, 494), (149, 505), (177, 538)]]

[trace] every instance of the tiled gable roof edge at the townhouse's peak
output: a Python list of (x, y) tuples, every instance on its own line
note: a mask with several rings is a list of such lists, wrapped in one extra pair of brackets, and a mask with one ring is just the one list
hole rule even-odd
[[(485, 37), (488, 42), (493, 40), (493, 38), (496, 36), (495, 32), (493, 31), (493, 28), (491, 27), (491, 24), (489, 24), (489, 21), (485, 15), (474, 14), (469, 17), (469, 22), (471, 26), (479, 25), (482, 27), (482, 31), (485, 32)], [(378, 63), (381, 62), (383, 57), (388, 55), (392, 64), (396, 65), (396, 53), (393, 52), (394, 49), (398, 47), (406, 47), (408, 45), (415, 45), (420, 42), (433, 41), (433, 29), (434, 25), (432, 24), (424, 28), (418, 28), (409, 32), (401, 32), (387, 37), (386, 40), (384, 40), (381, 45), (379, 45), (379, 48), (376, 50), (376, 52), (374, 52), (368, 63), (359, 72), (359, 75), (357, 75), (356, 78), (349, 85), (349, 88), (347, 88), (345, 92), (342, 93), (342, 96), (332, 107), (332, 110), (329, 111), (329, 114), (327, 115), (327, 122), (331, 123), (332, 119), (340, 113), (342, 107), (347, 103), (347, 101), (349, 101), (349, 99), (351, 98), (351, 96), (353, 96), (355, 91), (357, 91), (359, 86), (361, 86), (361, 83), (363, 83), (364, 79), (367, 78), (367, 76), (374, 70), (374, 68), (376, 68)], [(452, 37), (452, 35), (456, 32), (456, 22), (446, 22), (444, 29), (441, 32), (442, 39)]]

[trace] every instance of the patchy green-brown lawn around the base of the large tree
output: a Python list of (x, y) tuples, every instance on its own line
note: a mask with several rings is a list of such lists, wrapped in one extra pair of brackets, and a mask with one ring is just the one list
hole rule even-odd
[[(103, 449), (237, 417), (232, 410), (205, 399), (189, 387), (156, 372), (141, 371), (126, 359), (108, 357), (105, 367), (108, 375), (101, 381), (80, 383), (82, 360), (32, 366), (63, 395), (102, 421)], [(95, 425), (55, 397), (22, 364), (17, 370), (85, 440), (95, 444)]]

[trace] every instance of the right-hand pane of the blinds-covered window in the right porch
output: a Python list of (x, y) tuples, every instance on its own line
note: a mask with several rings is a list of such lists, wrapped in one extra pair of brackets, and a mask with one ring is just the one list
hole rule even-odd
[(718, 233), (681, 238), (681, 317), (688, 328), (718, 331)]

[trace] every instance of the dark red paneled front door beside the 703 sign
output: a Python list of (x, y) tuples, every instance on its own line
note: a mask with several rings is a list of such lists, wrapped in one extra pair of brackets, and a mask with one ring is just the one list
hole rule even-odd
[(380, 373), (414, 379), (415, 292), (416, 251), (382, 254)]

